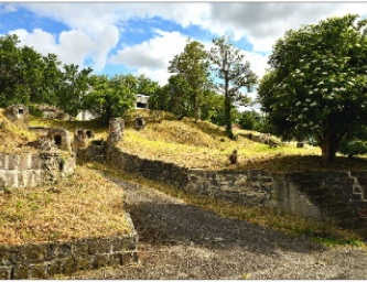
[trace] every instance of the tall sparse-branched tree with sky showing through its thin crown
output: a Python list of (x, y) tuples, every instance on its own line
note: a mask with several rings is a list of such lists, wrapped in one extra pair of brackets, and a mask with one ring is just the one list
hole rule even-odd
[(257, 76), (250, 69), (250, 63), (229, 37), (213, 40), (214, 47), (209, 52), (212, 70), (219, 80), (217, 88), (224, 95), (226, 131), (229, 138), (234, 138), (231, 130), (231, 109), (236, 105), (247, 105), (249, 98), (241, 93), (246, 88), (250, 90), (257, 83)]

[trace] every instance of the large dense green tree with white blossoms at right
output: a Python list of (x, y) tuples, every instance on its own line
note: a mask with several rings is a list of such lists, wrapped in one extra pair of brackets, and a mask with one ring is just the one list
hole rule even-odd
[(274, 130), (314, 138), (325, 162), (367, 118), (366, 20), (345, 15), (290, 30), (278, 40), (259, 96)]

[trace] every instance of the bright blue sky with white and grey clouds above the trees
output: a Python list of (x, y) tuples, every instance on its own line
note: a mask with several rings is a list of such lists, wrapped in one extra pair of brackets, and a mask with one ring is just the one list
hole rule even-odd
[[(276, 41), (285, 31), (335, 15), (367, 15), (367, 2), (262, 1), (22, 1), (0, 0), (0, 36), (95, 74), (144, 74), (168, 83), (170, 61), (187, 39), (208, 50), (212, 40), (233, 35), (261, 78)], [(256, 95), (256, 94), (252, 94)]]

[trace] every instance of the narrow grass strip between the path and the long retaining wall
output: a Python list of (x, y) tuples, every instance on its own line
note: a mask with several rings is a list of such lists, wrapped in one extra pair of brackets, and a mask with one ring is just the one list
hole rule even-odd
[(130, 183), (152, 187), (166, 195), (179, 198), (186, 204), (215, 213), (220, 217), (246, 220), (258, 226), (266, 226), (293, 236), (306, 236), (325, 246), (350, 245), (366, 247), (363, 239), (367, 230), (342, 229), (336, 224), (330, 221), (325, 223), (287, 215), (268, 207), (248, 207), (220, 199), (188, 194), (171, 185), (147, 180), (123, 171), (112, 170), (99, 163), (89, 163), (88, 167), (102, 171), (106, 174)]

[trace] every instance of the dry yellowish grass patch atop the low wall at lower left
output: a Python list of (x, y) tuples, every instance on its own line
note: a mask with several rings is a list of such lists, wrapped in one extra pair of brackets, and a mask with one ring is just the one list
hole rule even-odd
[(129, 230), (122, 191), (86, 167), (54, 186), (0, 196), (0, 243), (71, 240)]

